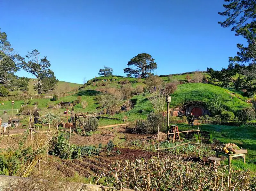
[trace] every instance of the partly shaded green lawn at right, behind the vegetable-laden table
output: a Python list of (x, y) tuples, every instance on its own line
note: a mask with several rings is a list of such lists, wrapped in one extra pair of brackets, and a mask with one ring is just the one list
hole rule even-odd
[[(188, 124), (177, 125), (179, 126), (179, 131), (197, 129), (197, 127), (192, 128)], [(240, 169), (250, 168), (251, 170), (256, 170), (256, 128), (254, 126), (200, 125), (199, 129), (202, 132), (205, 131), (212, 134), (213, 139), (220, 141), (221, 145), (223, 143), (235, 143), (237, 146), (247, 149), (246, 164), (244, 165), (241, 158), (233, 158), (232, 165)], [(228, 160), (226, 159), (224, 163), (228, 165)]]

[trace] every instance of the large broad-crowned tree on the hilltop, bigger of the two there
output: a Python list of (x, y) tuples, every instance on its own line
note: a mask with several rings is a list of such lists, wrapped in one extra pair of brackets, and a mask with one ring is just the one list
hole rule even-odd
[(128, 62), (127, 66), (130, 67), (125, 68), (124, 73), (127, 73), (127, 76), (148, 77), (157, 68), (157, 64), (154, 61), (155, 59), (147, 53), (138, 54)]

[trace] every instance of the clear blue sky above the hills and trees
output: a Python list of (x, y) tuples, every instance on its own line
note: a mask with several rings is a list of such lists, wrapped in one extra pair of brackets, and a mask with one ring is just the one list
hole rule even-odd
[[(25, 56), (37, 49), (62, 81), (82, 83), (103, 65), (124, 75), (127, 62), (148, 53), (158, 75), (227, 67), (245, 43), (218, 15), (222, 0), (1, 0), (0, 28)], [(19, 76), (32, 77), (25, 71)]]

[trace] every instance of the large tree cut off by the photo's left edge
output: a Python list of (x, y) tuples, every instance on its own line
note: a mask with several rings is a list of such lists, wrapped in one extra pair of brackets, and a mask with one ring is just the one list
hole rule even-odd
[(16, 54), (10, 42), (7, 41), (6, 33), (0, 31), (0, 86), (9, 91), (28, 89), (29, 79), (14, 75), (20, 70), (23, 61), (24, 58)]

